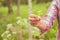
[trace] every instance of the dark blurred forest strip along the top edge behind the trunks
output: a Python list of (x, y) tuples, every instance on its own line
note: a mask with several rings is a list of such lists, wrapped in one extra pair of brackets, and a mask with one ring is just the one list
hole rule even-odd
[[(0, 5), (2, 6), (7, 6), (8, 5), (8, 1), (9, 0), (0, 0)], [(42, 3), (42, 2), (50, 2), (52, 0), (32, 0), (33, 3), (35, 2), (36, 4), (37, 3)], [(20, 0), (21, 4), (28, 4), (28, 0)], [(17, 0), (12, 0), (12, 3), (13, 4), (17, 4)]]

